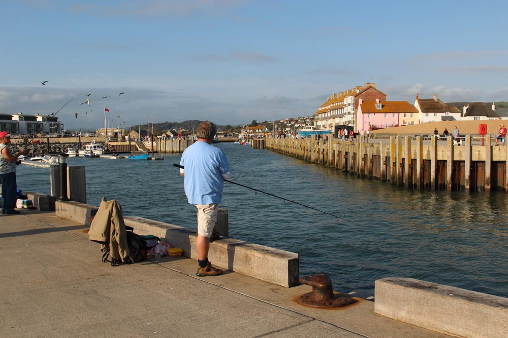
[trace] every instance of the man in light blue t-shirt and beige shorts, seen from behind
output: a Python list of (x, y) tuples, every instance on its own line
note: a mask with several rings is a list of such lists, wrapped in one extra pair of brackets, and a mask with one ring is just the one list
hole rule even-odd
[(208, 260), (210, 236), (217, 220), (218, 206), (222, 202), (224, 179), (231, 176), (231, 169), (224, 152), (211, 145), (217, 133), (215, 124), (203, 121), (198, 126), (198, 140), (185, 149), (180, 160), (180, 175), (188, 202), (198, 209), (197, 276), (217, 276), (222, 270), (213, 267)]

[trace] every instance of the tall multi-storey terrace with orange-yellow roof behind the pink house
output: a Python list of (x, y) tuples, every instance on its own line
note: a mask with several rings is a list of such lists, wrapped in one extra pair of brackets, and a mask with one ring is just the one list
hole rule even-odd
[(344, 92), (333, 93), (314, 113), (316, 128), (334, 131), (338, 126), (354, 126), (358, 130), (357, 110), (360, 99), (386, 101), (386, 94), (376, 89), (375, 83), (366, 83)]

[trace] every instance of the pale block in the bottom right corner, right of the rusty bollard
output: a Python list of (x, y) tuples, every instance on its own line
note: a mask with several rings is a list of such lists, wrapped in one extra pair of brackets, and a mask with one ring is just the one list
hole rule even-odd
[(508, 338), (508, 298), (412, 278), (375, 281), (374, 312), (467, 338)]

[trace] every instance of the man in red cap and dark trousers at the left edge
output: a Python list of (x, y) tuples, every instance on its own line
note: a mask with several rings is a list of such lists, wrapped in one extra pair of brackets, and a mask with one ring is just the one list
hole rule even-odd
[(3, 214), (19, 214), (14, 210), (16, 206), (16, 166), (18, 157), (23, 155), (23, 151), (19, 151), (13, 155), (9, 144), (11, 143), (11, 135), (3, 131), (0, 133), (0, 179), (2, 182), (2, 213)]

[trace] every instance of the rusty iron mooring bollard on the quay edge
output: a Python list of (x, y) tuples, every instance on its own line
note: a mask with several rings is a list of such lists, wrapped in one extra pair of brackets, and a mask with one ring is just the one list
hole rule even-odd
[(333, 292), (332, 280), (325, 273), (300, 277), (300, 283), (312, 286), (312, 292), (304, 293), (298, 303), (312, 308), (339, 308), (356, 303), (355, 299)]

